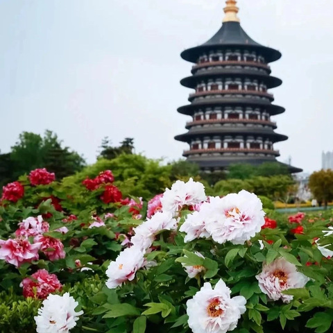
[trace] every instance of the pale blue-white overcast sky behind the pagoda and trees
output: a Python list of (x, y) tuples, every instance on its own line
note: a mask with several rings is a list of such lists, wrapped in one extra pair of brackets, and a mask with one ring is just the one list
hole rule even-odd
[[(177, 160), (191, 89), (180, 52), (221, 26), (223, 0), (0, 0), (0, 149), (53, 130), (94, 162), (101, 139), (134, 137), (137, 153)], [(287, 142), (279, 160), (321, 169), (333, 150), (333, 1), (239, 0), (244, 30), (282, 52), (271, 89)]]

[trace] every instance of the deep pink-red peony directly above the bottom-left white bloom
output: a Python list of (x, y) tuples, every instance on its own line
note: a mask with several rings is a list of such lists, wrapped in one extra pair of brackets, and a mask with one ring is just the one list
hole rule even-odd
[(45, 269), (39, 269), (30, 278), (22, 280), (23, 296), (44, 300), (50, 293), (62, 289), (62, 284), (55, 274), (49, 274)]

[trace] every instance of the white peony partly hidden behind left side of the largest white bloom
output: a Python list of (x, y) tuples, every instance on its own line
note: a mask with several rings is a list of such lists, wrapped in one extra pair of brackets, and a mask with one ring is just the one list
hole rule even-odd
[(185, 222), (180, 227), (180, 232), (186, 232), (185, 243), (193, 241), (197, 238), (208, 238), (210, 233), (205, 228), (205, 221), (208, 216), (211, 216), (212, 205), (210, 203), (203, 203), (199, 212), (193, 212), (187, 215)]

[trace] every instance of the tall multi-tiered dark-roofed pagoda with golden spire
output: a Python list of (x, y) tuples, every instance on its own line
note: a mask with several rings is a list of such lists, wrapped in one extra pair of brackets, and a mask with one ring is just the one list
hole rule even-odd
[[(277, 126), (271, 116), (285, 109), (272, 104), (273, 94), (268, 92), (282, 84), (271, 76), (268, 65), (282, 55), (252, 40), (239, 23), (237, 1), (226, 3), (219, 31), (181, 53), (194, 66), (192, 75), (180, 83), (195, 92), (189, 95), (191, 104), (178, 108), (192, 119), (185, 126), (188, 132), (175, 139), (189, 144), (183, 156), (203, 171), (277, 162), (280, 153), (273, 146), (288, 139), (274, 131)], [(302, 171), (288, 167), (291, 172)]]

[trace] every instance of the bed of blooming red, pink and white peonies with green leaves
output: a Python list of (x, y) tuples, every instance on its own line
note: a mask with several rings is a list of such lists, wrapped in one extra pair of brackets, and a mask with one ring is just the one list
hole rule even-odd
[(144, 201), (110, 170), (55, 176), (3, 188), (0, 332), (332, 332), (331, 212), (287, 219), (192, 179)]

